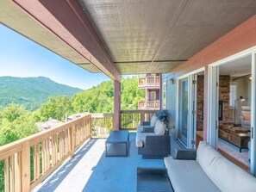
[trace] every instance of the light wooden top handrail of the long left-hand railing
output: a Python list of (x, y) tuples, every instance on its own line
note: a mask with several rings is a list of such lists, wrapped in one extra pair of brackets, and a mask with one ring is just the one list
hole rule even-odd
[(13, 142), (11, 142), (9, 144), (0, 146), (0, 160), (1, 160), (2, 152), (9, 151), (10, 149), (16, 148), (17, 146), (20, 146), (20, 145), (22, 145), (22, 144), (24, 144), (24, 143), (26, 143), (28, 141), (32, 141), (34, 139), (39, 139), (39, 138), (42, 138), (42, 137), (47, 136), (49, 134), (59, 132), (59, 129), (66, 129), (66, 127), (69, 127), (69, 125), (74, 124), (76, 121), (80, 121), (85, 116), (88, 116), (88, 115), (83, 115), (83, 116), (79, 117), (78, 119), (66, 122), (64, 125), (59, 125), (58, 127), (53, 127), (51, 129), (42, 131), (40, 133), (34, 133), (34, 134), (32, 134), (32, 135), (30, 135), (30, 136), (28, 136), (26, 138), (18, 139), (18, 140), (13, 141)]

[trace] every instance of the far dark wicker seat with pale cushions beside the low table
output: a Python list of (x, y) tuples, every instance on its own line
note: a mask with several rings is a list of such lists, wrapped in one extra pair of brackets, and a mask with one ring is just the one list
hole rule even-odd
[(171, 155), (171, 140), (165, 123), (153, 116), (150, 126), (137, 127), (136, 146), (142, 158), (164, 158)]

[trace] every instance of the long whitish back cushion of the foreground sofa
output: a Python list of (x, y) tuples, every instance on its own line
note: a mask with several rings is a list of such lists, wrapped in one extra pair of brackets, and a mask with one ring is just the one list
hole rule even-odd
[(223, 192), (255, 192), (256, 178), (224, 158), (206, 142), (197, 149), (197, 162)]

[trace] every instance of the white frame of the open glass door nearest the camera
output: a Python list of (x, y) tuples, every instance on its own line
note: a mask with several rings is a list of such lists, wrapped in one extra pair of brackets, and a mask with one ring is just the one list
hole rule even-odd
[[(252, 87), (251, 87), (251, 149), (250, 149), (250, 172), (253, 176), (256, 176), (256, 46), (248, 48), (240, 53), (235, 53), (225, 59), (221, 59), (208, 65), (208, 120), (207, 120), (207, 142), (209, 145), (217, 147), (216, 139), (218, 136), (216, 129), (216, 117), (218, 116), (218, 97), (215, 92), (218, 93), (218, 78), (216, 78), (216, 72), (218, 72), (219, 65), (225, 65), (235, 59), (242, 57), (252, 57)], [(214, 89), (215, 88), (215, 89)]]

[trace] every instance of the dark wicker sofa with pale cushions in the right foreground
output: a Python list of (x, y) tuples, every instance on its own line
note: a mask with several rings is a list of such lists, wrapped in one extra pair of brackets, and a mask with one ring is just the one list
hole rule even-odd
[[(197, 151), (176, 151), (174, 158), (165, 158), (164, 162), (165, 168), (138, 168), (137, 191), (143, 191), (145, 188), (147, 191), (175, 192), (256, 191), (255, 177), (224, 158), (203, 141), (200, 142)], [(166, 177), (171, 182), (169, 189)], [(150, 186), (157, 186), (158, 183), (159, 189)], [(166, 190), (163, 190), (162, 186)]]

